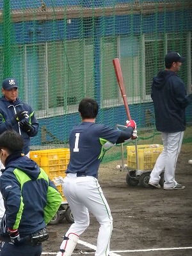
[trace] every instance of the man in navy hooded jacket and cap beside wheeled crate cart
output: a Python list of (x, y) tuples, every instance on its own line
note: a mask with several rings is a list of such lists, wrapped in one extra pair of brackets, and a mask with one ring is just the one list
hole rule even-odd
[(185, 58), (170, 51), (164, 61), (166, 68), (154, 77), (151, 93), (156, 128), (161, 132), (164, 150), (157, 158), (148, 184), (161, 188), (160, 174), (164, 171), (164, 189), (184, 189), (185, 186), (175, 180), (175, 167), (186, 129), (185, 109), (192, 102), (192, 94), (187, 95), (182, 79), (177, 76)]

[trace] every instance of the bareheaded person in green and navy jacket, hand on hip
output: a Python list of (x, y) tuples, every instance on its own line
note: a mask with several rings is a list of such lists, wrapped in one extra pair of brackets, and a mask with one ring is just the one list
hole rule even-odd
[(62, 200), (44, 170), (24, 156), (23, 145), (13, 130), (0, 135), (0, 158), (5, 166), (0, 177), (5, 207), (0, 256), (40, 256), (42, 242), (49, 237), (46, 225)]

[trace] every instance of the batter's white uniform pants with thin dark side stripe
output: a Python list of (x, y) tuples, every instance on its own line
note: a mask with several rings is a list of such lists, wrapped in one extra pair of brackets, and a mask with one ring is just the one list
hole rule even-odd
[(75, 221), (65, 236), (70, 233), (80, 236), (89, 226), (89, 212), (92, 212), (100, 223), (95, 256), (107, 256), (113, 229), (113, 218), (98, 180), (92, 176), (77, 177), (76, 173), (67, 173), (63, 184), (63, 194)]

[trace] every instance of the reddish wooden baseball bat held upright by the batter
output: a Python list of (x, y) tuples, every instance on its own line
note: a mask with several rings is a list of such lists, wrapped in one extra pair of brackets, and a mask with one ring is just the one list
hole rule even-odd
[(128, 117), (128, 120), (131, 120), (131, 115), (130, 115), (130, 112), (129, 112), (129, 106), (128, 106), (128, 103), (127, 103), (127, 96), (126, 96), (126, 93), (125, 93), (125, 85), (124, 85), (124, 78), (123, 78), (123, 75), (122, 75), (122, 68), (120, 66), (120, 61), (119, 61), (118, 58), (113, 59), (113, 65), (114, 65), (114, 68), (115, 68), (115, 74), (116, 74), (116, 79), (118, 81), (118, 86), (120, 88), (120, 92), (121, 92), (123, 100), (124, 100), (124, 105), (125, 105), (125, 110), (126, 110), (126, 113), (127, 113), (127, 117)]

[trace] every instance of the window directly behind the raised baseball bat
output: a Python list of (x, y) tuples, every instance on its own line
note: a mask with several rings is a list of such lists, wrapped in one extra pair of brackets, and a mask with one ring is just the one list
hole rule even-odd
[(122, 104), (122, 96), (117, 86), (112, 60), (116, 58), (116, 49), (124, 77), (125, 90), (129, 102), (140, 95), (140, 56), (137, 36), (119, 36), (102, 38), (101, 42), (101, 102), (103, 108)]

